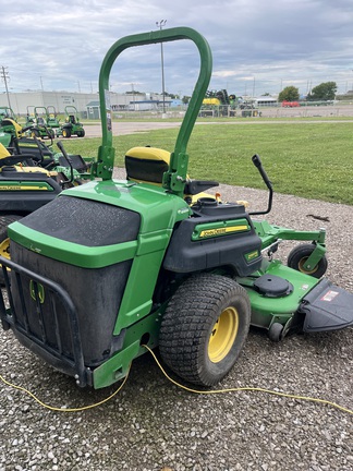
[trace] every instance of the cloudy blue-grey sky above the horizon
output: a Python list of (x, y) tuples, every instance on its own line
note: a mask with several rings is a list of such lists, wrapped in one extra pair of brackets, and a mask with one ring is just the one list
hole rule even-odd
[[(108, 49), (123, 36), (157, 29), (166, 20), (163, 28), (188, 26), (208, 40), (214, 58), (209, 89), (276, 96), (295, 86), (306, 95), (331, 81), (338, 93), (353, 89), (353, 0), (4, 2), (0, 76), (5, 72), (10, 93), (97, 92)], [(191, 95), (198, 67), (191, 41), (165, 44), (165, 90)], [(160, 45), (122, 52), (110, 89), (161, 93)]]

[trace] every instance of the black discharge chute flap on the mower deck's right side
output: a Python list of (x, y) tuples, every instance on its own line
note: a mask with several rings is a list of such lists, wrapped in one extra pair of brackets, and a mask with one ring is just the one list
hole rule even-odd
[(353, 325), (353, 294), (321, 279), (303, 299), (304, 331), (337, 330)]

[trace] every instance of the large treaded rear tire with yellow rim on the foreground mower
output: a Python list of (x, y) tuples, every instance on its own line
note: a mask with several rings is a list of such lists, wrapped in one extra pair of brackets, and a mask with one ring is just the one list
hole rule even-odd
[(249, 322), (244, 288), (219, 275), (192, 276), (179, 287), (163, 315), (161, 358), (183, 379), (214, 386), (236, 362)]

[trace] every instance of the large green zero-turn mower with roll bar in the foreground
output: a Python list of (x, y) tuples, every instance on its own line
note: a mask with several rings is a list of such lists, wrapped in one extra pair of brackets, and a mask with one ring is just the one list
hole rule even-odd
[[(126, 180), (113, 180), (111, 68), (127, 48), (181, 39), (196, 45), (200, 72), (174, 149), (132, 148)], [(118, 40), (99, 76), (96, 179), (9, 227), (2, 326), (80, 386), (123, 378), (144, 346), (159, 346), (185, 381), (211, 386), (236, 362), (251, 324), (273, 340), (353, 324), (353, 294), (321, 278), (325, 231), (257, 221), (240, 203), (205, 196), (217, 182), (188, 179), (186, 146), (210, 75), (209, 46), (194, 29)], [(258, 156), (253, 161), (269, 188), (265, 214), (272, 189)], [(311, 243), (285, 266), (272, 256), (280, 239)]]

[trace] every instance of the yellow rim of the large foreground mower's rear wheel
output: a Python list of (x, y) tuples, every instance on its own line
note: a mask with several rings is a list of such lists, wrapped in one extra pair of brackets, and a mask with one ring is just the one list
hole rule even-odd
[(239, 329), (235, 307), (227, 307), (216, 321), (208, 341), (208, 358), (212, 363), (222, 361), (230, 352)]

